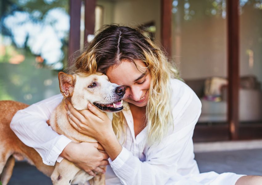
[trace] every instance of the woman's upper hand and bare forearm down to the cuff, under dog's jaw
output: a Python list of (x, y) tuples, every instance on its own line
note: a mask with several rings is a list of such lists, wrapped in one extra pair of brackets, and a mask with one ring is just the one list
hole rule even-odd
[(108, 116), (91, 103), (88, 103), (88, 110), (77, 111), (70, 101), (65, 102), (66, 109), (70, 112), (69, 123), (80, 133), (95, 138), (113, 161), (120, 154), (122, 146)]

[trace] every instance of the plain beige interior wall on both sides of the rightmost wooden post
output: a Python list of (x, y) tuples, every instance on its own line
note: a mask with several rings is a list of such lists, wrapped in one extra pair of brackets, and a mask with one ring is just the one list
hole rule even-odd
[[(182, 1), (179, 1), (179, 3)], [(207, 15), (205, 0), (190, 1), (191, 20), (183, 4), (172, 21), (172, 55), (182, 78), (227, 77), (227, 25), (221, 14)], [(262, 10), (246, 4), (240, 16), (240, 76), (255, 75), (262, 82)], [(250, 53), (251, 52), (251, 53)], [(253, 52), (253, 66), (252, 63)]]

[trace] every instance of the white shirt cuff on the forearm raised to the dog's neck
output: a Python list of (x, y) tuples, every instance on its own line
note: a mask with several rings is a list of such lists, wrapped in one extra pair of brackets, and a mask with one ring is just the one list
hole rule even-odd
[(122, 146), (122, 150), (120, 154), (117, 156), (117, 158), (115, 158), (115, 160), (113, 161), (111, 160), (111, 158), (108, 158), (108, 162), (112, 167), (112, 169), (118, 170), (125, 164), (129, 156), (130, 156), (130, 152), (125, 147)]

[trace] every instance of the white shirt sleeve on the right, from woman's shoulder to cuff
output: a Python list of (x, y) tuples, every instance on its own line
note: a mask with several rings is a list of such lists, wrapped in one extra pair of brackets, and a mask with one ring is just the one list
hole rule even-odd
[[(181, 97), (175, 102), (173, 109), (174, 130), (171, 126), (170, 133), (158, 145), (150, 146), (144, 151), (144, 162), (125, 147), (114, 161), (109, 158), (109, 163), (121, 182), (136, 185), (200, 184), (181, 175), (178, 172), (178, 162), (181, 162), (182, 154), (192, 140), (201, 106), (195, 93), (189, 87), (183, 87)], [(193, 145), (191, 147), (191, 153), (187, 154), (189, 156), (194, 155)], [(198, 168), (196, 173), (199, 173)]]

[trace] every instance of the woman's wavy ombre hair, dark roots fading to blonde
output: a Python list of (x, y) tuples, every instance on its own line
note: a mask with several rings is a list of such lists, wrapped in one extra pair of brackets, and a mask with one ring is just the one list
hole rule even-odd
[[(118, 24), (104, 25), (70, 71), (87, 75), (97, 72), (106, 74), (110, 66), (118, 65), (122, 60), (134, 64), (134, 60), (141, 60), (151, 75), (146, 106), (147, 142), (159, 143), (173, 125), (170, 79), (179, 78), (179, 74), (168, 62), (161, 47), (142, 31)], [(124, 121), (122, 112), (114, 113), (112, 125), (118, 139), (125, 133)]]

